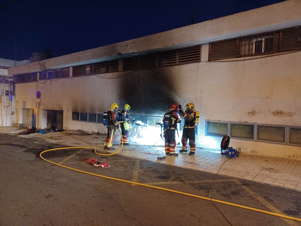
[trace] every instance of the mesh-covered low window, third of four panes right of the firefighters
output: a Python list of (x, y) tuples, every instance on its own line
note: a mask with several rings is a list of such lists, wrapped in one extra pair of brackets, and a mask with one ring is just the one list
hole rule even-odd
[(258, 125), (257, 140), (285, 143), (285, 127)]

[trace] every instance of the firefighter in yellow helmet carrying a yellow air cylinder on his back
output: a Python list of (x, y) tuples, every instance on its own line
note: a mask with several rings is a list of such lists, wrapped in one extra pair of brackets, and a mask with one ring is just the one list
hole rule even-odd
[[(187, 140), (189, 139), (190, 152), (188, 155), (195, 153), (195, 133), (194, 125), (196, 121), (196, 111), (193, 103), (188, 103), (185, 112), (182, 111), (182, 116), (185, 118), (185, 124), (182, 135), (182, 150), (180, 152), (187, 152)], [(180, 112), (181, 113), (181, 112)]]

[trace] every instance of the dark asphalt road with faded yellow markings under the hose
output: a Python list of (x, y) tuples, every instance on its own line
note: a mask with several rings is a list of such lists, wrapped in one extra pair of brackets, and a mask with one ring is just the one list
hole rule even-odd
[[(0, 134), (0, 225), (301, 225), (259, 212), (72, 171), (39, 157), (58, 144)], [(43, 157), (84, 171), (209, 196), (214, 174), (65, 149)], [(106, 161), (99, 169), (88, 158)], [(217, 176), (211, 197), (301, 218), (295, 190)]]

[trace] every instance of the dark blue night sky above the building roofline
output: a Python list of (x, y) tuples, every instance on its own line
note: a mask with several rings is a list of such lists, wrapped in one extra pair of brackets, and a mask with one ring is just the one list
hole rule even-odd
[(0, 58), (52, 57), (105, 46), (283, 0), (0, 0)]

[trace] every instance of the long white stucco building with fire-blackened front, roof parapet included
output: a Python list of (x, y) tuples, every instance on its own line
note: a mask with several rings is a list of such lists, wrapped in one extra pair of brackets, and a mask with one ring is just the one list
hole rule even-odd
[(229, 135), (245, 153), (301, 160), (300, 11), (289, 0), (9, 68), (16, 121), (104, 134), (102, 113), (128, 103), (147, 125), (132, 139), (152, 145), (170, 105), (193, 102), (198, 147)]

